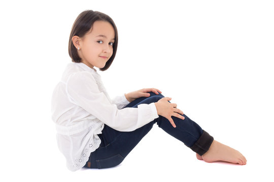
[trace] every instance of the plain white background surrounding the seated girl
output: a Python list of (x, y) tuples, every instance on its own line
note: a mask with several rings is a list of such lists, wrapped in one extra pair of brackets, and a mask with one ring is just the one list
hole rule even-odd
[[(118, 167), (66, 169), (51, 94), (87, 9), (118, 28), (117, 56), (99, 71), (111, 97), (156, 87), (248, 164), (199, 161), (155, 125)], [(2, 1), (1, 181), (272, 181), (273, 9), (262, 0)]]

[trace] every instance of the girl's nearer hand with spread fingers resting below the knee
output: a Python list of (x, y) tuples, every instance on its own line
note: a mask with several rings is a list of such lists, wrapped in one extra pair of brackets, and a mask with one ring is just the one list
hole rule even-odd
[[(180, 119), (185, 119), (184, 116), (182, 116), (184, 113), (180, 109), (177, 109), (177, 104), (169, 103), (168, 101), (172, 100), (172, 98), (162, 98), (158, 102), (155, 103), (157, 114), (165, 117), (168, 119), (168, 121), (173, 125), (173, 127), (176, 127), (172, 116), (178, 117)], [(179, 113), (179, 114), (178, 114)], [(180, 115), (182, 114), (182, 115)]]

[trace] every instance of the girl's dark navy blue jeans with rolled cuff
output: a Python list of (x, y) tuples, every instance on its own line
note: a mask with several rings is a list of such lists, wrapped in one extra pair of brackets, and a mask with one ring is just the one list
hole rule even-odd
[[(134, 100), (125, 107), (137, 108), (139, 104), (150, 104), (159, 101), (164, 96), (150, 92), (150, 97), (142, 97)], [(101, 144), (98, 149), (91, 153), (85, 167), (88, 168), (109, 168), (119, 165), (129, 152), (157, 125), (174, 138), (182, 141), (187, 147), (199, 155), (207, 152), (213, 142), (213, 137), (201, 129), (185, 114), (184, 120), (172, 116), (176, 128), (162, 116), (154, 119), (150, 123), (129, 132), (117, 131), (105, 124), (101, 134), (98, 134)]]

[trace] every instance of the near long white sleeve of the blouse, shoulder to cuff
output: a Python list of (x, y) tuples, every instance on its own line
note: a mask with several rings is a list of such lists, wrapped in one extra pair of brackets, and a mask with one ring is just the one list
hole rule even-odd
[(119, 131), (135, 130), (159, 117), (154, 103), (118, 109), (100, 92), (95, 78), (87, 71), (73, 73), (68, 78), (66, 93), (71, 102)]

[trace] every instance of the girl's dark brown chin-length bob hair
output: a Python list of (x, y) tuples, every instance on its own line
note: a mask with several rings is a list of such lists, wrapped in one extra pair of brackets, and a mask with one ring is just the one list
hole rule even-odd
[(77, 53), (77, 49), (75, 48), (75, 46), (73, 44), (72, 37), (75, 35), (77, 35), (79, 37), (83, 37), (87, 32), (89, 32), (89, 30), (91, 29), (91, 27), (93, 26), (93, 23), (95, 21), (109, 22), (113, 26), (114, 32), (115, 32), (115, 41), (113, 44), (113, 54), (110, 57), (110, 59), (107, 61), (104, 68), (99, 69), (100, 71), (105, 71), (111, 66), (111, 64), (115, 58), (116, 51), (117, 51), (117, 45), (118, 45), (118, 32), (117, 32), (117, 27), (116, 27), (114, 21), (111, 19), (111, 17), (109, 17), (108, 15), (106, 15), (104, 13), (92, 11), (92, 10), (86, 10), (86, 11), (82, 12), (76, 18), (76, 20), (73, 24), (73, 27), (72, 27), (70, 41), (68, 42), (68, 54), (72, 58), (72, 62), (75, 62), (75, 63), (81, 62), (81, 58), (79, 57), (79, 55)]

